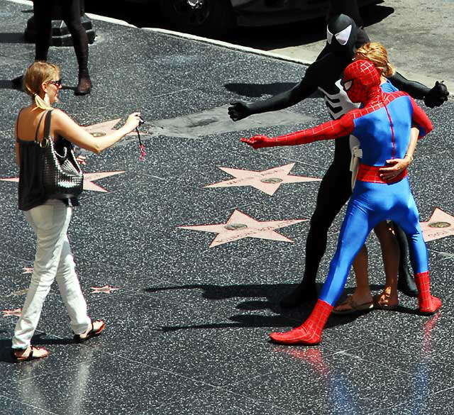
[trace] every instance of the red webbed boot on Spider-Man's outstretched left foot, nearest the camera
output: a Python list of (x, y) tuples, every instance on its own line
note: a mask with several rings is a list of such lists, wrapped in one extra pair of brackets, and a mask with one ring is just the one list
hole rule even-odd
[(321, 341), (321, 331), (328, 320), (333, 306), (319, 299), (311, 315), (301, 326), (284, 333), (271, 333), (270, 338), (276, 343), (315, 345)]

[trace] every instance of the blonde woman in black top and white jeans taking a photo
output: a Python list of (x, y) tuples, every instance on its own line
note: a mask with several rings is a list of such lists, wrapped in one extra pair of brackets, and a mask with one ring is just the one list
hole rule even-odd
[(52, 111), (49, 135), (56, 149), (70, 142), (94, 153), (109, 148), (133, 131), (140, 121), (140, 113), (135, 112), (128, 116), (123, 127), (94, 138), (65, 112), (52, 108), (52, 104), (58, 100), (61, 79), (58, 67), (48, 62), (38, 61), (28, 67), (24, 86), (32, 102), (21, 109), (15, 127), (16, 160), (20, 166), (18, 207), (36, 233), (36, 253), (31, 284), (12, 340), (11, 357), (16, 361), (44, 358), (49, 354), (45, 348), (37, 348), (30, 342), (54, 280), (57, 280), (70, 315), (74, 341), (87, 341), (101, 334), (105, 327), (104, 321), (92, 321), (87, 314), (87, 303), (75, 272), (67, 238), (72, 208), (78, 205), (77, 198), (50, 199), (45, 194), (40, 175), (36, 174), (40, 171), (39, 145), (44, 135), (45, 114)]

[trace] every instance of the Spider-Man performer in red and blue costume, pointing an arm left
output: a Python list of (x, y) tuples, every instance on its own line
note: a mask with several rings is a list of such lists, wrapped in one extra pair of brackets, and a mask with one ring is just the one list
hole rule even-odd
[(426, 244), (419, 226), (419, 213), (410, 191), (406, 170), (391, 182), (380, 177), (386, 160), (402, 158), (409, 145), (410, 129), (419, 128), (419, 137), (432, 131), (431, 121), (405, 92), (386, 94), (380, 89), (380, 74), (367, 60), (357, 60), (343, 73), (343, 88), (362, 109), (354, 109), (338, 120), (297, 133), (269, 138), (243, 138), (253, 148), (296, 145), (328, 140), (348, 134), (360, 140), (362, 160), (353, 195), (341, 227), (336, 253), (314, 311), (299, 327), (285, 333), (271, 333), (277, 343), (318, 344), (333, 305), (343, 291), (353, 259), (372, 228), (391, 219), (409, 238), (410, 259), (419, 292), (419, 311), (433, 314), (441, 300), (432, 297)]

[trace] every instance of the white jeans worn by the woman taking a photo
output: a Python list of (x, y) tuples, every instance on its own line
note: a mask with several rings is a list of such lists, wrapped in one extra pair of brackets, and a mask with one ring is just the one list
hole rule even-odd
[(72, 208), (60, 200), (51, 200), (24, 211), (24, 214), (36, 233), (36, 254), (22, 316), (14, 330), (12, 347), (16, 349), (26, 349), (30, 345), (45, 297), (54, 280), (57, 280), (63, 302), (70, 314), (72, 331), (82, 334), (92, 322), (87, 316), (87, 303), (80, 289), (67, 238)]

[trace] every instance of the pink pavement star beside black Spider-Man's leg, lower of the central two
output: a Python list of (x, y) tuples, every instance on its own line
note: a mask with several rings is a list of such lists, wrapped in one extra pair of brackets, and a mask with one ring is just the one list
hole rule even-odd
[(214, 232), (218, 236), (211, 242), (209, 248), (214, 248), (223, 243), (233, 242), (243, 238), (260, 238), (269, 240), (293, 240), (275, 232), (275, 229), (304, 222), (307, 219), (284, 219), (282, 221), (256, 221), (254, 218), (235, 210), (226, 223), (217, 225), (177, 226), (177, 228), (192, 229), (193, 231)]

